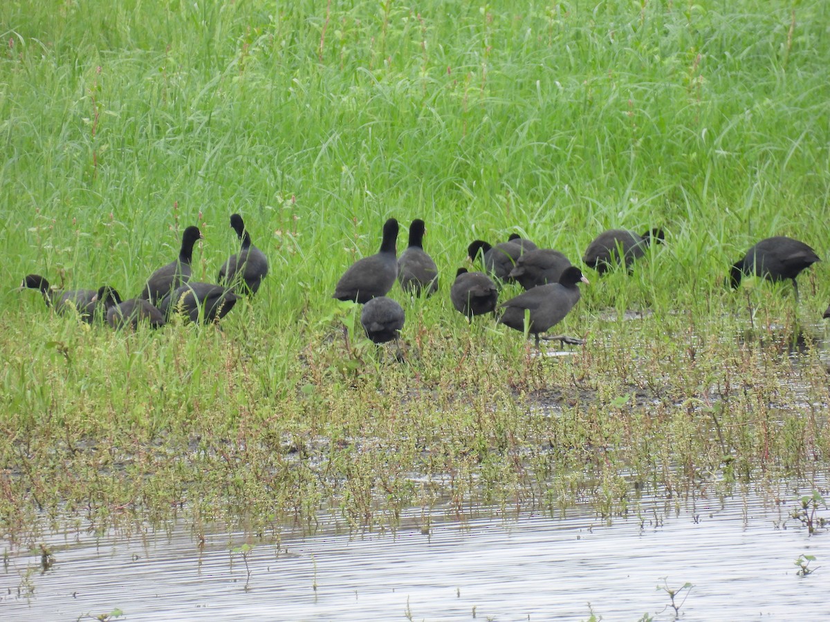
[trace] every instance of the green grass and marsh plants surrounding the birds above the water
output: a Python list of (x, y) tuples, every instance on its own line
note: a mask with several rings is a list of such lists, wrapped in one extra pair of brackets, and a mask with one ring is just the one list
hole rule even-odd
[[(826, 266), (797, 313), (786, 284), (723, 280), (765, 236), (828, 258), (828, 21), (818, 0), (2, 2), (9, 532), (41, 510), (362, 526), (583, 493), (610, 515), (630, 477), (826, 474), (826, 363), (785, 347), (830, 301)], [(135, 295), (190, 224), (214, 280), (235, 211), (271, 275), (221, 332), (110, 333), (13, 290), (35, 272)], [(442, 279), (425, 302), (393, 290), (404, 365), (330, 298), (389, 216), (427, 222)], [(573, 357), (449, 303), (475, 238), (579, 260), (617, 226), (662, 226), (666, 245), (630, 278), (586, 273)]]

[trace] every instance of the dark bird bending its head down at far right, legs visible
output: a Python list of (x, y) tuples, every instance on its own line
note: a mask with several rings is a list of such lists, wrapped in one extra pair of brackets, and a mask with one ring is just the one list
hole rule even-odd
[(792, 279), (795, 299), (798, 300), (798, 283), (802, 270), (821, 261), (816, 251), (791, 237), (768, 237), (746, 251), (730, 269), (730, 284), (738, 287), (744, 275), (758, 275), (770, 281)]

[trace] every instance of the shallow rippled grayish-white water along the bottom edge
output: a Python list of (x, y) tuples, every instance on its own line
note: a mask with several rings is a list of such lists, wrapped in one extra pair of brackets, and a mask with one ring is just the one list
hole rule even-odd
[[(476, 620), (587, 620), (591, 603), (603, 620), (673, 620), (657, 589), (666, 577), (674, 589), (694, 584), (684, 620), (830, 619), (830, 534), (809, 537), (788, 520), (809, 492), (750, 489), (677, 505), (646, 498), (642, 518), (612, 524), (586, 505), (566, 518), (437, 514), (428, 533), (286, 533), (279, 547), (254, 543), (247, 589), (242, 554), (231, 552), (241, 534), (209, 536), (201, 551), (185, 525), (129, 541), (64, 534), (48, 542), (56, 562), (46, 572), (39, 552), (10, 555), (0, 617), (76, 620), (119, 608), (126, 620), (472, 620), (475, 608)], [(824, 567), (797, 576), (802, 554)], [(18, 594), (27, 568), (37, 569), (28, 597)]]

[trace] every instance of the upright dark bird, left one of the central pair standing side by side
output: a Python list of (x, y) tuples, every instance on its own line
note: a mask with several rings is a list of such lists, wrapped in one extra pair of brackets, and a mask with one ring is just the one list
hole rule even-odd
[(357, 260), (344, 272), (334, 288), (334, 298), (364, 304), (388, 294), (398, 278), (398, 221), (383, 225), (383, 241), (374, 255)]

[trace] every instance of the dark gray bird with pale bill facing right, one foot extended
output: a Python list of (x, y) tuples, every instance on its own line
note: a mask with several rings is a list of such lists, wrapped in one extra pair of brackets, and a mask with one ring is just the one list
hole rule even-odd
[[(588, 283), (582, 272), (576, 266), (566, 268), (559, 277), (559, 283), (539, 285), (519, 294), (515, 298), (500, 304), (501, 317), (499, 323), (515, 330), (525, 330), (525, 311), (530, 311), (529, 332), (536, 338), (536, 347), (539, 347), (540, 333), (561, 322), (574, 304), (579, 302), (579, 281)], [(544, 339), (559, 339), (564, 343), (583, 343), (581, 339), (564, 337), (544, 337)]]

